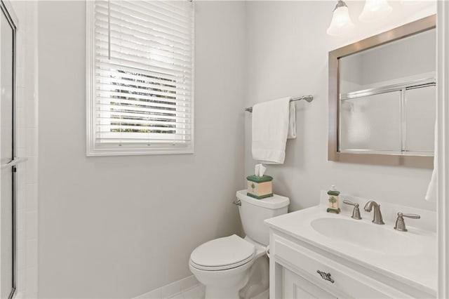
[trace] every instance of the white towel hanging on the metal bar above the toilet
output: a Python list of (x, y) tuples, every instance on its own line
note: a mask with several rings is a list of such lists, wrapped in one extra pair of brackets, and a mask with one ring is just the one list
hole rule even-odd
[(283, 164), (287, 138), (296, 138), (296, 110), (291, 97), (253, 106), (253, 159)]

